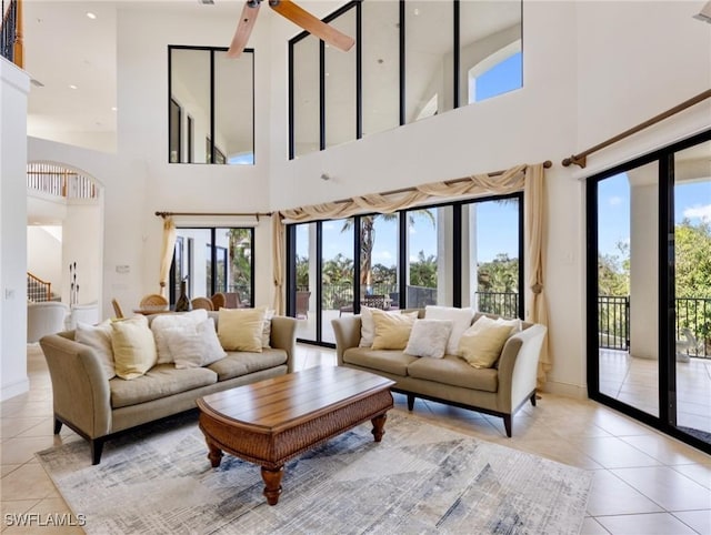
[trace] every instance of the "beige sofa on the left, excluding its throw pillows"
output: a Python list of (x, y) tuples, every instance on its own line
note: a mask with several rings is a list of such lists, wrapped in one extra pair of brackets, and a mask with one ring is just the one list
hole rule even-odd
[[(217, 312), (208, 314), (218, 322)], [(296, 326), (293, 317), (274, 316), (271, 347), (262, 353), (228, 352), (208, 366), (187, 370), (157, 364), (130, 381), (107, 380), (94, 350), (76, 342), (74, 331), (43, 336), (54, 434), (67, 424), (90, 442), (92, 464), (99, 464), (103, 443), (118, 433), (194, 408), (200, 396), (293, 372)]]

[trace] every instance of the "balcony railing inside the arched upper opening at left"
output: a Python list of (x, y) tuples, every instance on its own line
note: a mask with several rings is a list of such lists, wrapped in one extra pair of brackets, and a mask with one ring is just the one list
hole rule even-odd
[(77, 171), (53, 163), (28, 163), (27, 186), (66, 199), (98, 199), (93, 180)]

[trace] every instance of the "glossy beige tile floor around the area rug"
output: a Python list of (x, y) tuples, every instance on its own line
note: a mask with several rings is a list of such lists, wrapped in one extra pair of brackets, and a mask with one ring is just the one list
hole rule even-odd
[[(299, 345), (297, 367), (333, 365), (334, 352)], [(51, 384), (37, 346), (28, 347), (30, 392), (0, 404), (2, 533), (81, 533), (8, 526), (8, 514), (69, 513), (34, 452), (81, 440), (52, 435)], [(395, 396), (395, 411), (405, 411)], [(507, 438), (500, 418), (418, 400), (415, 414), (484, 441), (534, 453), (594, 474), (583, 534), (711, 535), (711, 456), (589, 400), (542, 394)], [(12, 517), (10, 517), (12, 518)]]

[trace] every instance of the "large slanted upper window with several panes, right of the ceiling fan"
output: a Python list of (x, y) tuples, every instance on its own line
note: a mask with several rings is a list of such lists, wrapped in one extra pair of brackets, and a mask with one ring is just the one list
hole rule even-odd
[(323, 20), (356, 47), (289, 42), (291, 159), (523, 84), (521, 0), (352, 1)]

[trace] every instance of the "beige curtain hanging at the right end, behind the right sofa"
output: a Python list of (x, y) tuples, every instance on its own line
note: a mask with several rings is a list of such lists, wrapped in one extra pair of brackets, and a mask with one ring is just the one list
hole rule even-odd
[[(525, 256), (528, 263), (525, 320), (548, 326), (548, 302), (545, 300), (547, 251), (547, 206), (543, 165), (529, 165), (525, 170), (525, 188), (523, 190), (525, 211)], [(550, 333), (550, 327), (549, 327)], [(545, 374), (551, 370), (549, 335), (543, 339), (541, 357), (538, 365), (538, 387), (545, 383)]]

